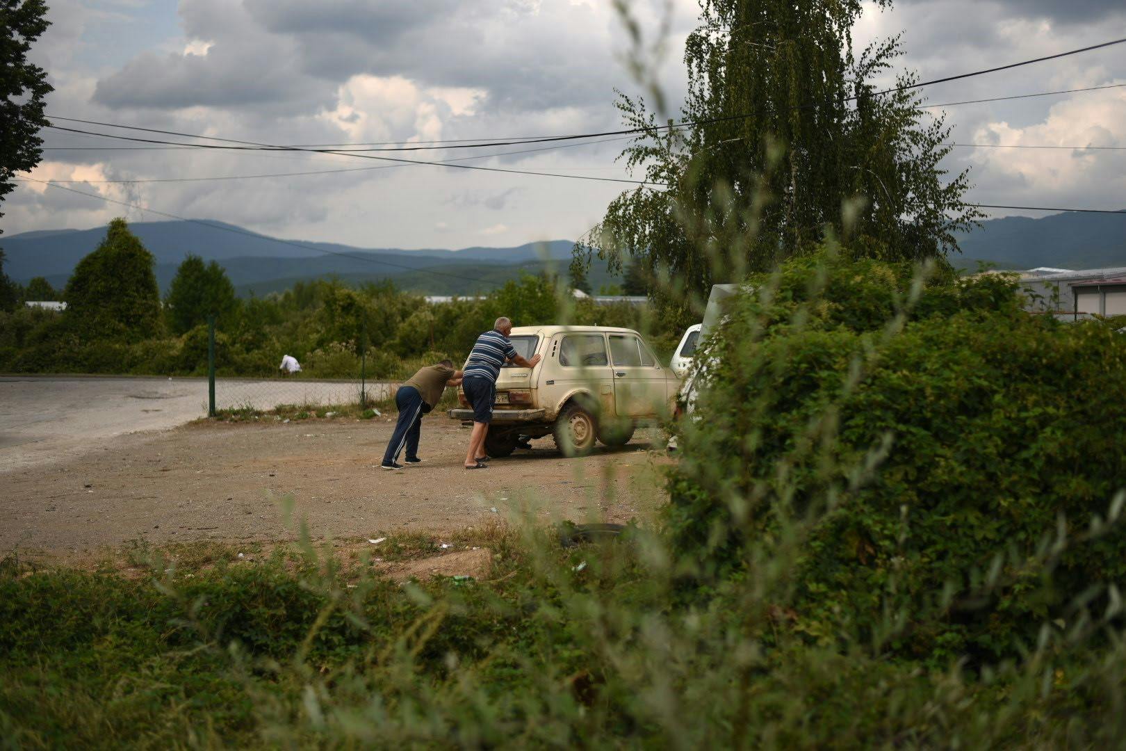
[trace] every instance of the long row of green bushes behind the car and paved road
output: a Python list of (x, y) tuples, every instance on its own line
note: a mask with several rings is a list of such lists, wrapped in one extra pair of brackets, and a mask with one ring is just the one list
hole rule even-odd
[[(223, 287), (198, 259), (185, 266), (191, 271), (188, 276), (203, 274), (207, 285)], [(189, 281), (186, 277), (179, 290), (185, 315), (170, 314), (173, 331), (198, 321), (207, 295), (222, 297), (214, 290), (195, 289), (203, 284), (200, 279)], [(352, 288), (337, 281), (298, 283), (279, 295), (234, 301), (224, 307), (216, 327), (216, 367), (224, 376), (267, 378), (277, 375), (283, 355), (293, 355), (302, 364), (300, 377), (354, 378), (363, 350), (368, 377), (403, 377), (425, 358), (462, 361), (477, 334), (500, 315), (517, 325), (573, 322), (643, 330), (662, 358), (671, 354), (681, 333), (650, 321), (644, 307), (587, 299), (561, 310), (557, 295), (552, 279), (531, 276), (480, 299), (439, 304), (399, 292), (391, 284)], [(205, 323), (196, 322), (178, 336), (136, 339), (116, 330), (80, 330), (68, 314), (0, 312), (2, 372), (204, 375), (206, 368)]]

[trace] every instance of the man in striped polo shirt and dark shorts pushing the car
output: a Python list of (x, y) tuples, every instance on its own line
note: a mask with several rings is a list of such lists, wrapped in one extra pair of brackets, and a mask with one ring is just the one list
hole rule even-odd
[(485, 435), (489, 432), (489, 422), (492, 420), (492, 405), (497, 399), (497, 378), (500, 376), (500, 366), (511, 360), (521, 368), (534, 368), (539, 363), (539, 355), (533, 355), (531, 359), (525, 359), (516, 354), (516, 348), (508, 340), (508, 334), (512, 331), (512, 322), (507, 318), (499, 318), (493, 323), (492, 331), (485, 331), (477, 337), (470, 352), (470, 359), (465, 361), (465, 370), (462, 373), (462, 388), (465, 390), (465, 399), (473, 405), (473, 435), (470, 436), (470, 450), (465, 455), (466, 470), (488, 468), (485, 456)]

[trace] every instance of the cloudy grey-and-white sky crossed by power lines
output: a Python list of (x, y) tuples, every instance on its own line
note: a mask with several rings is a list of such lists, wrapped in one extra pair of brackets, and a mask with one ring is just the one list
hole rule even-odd
[[(55, 92), (48, 114), (272, 144), (429, 142), (620, 127), (614, 89), (636, 92), (626, 35), (609, 0), (52, 0), (34, 50)], [(667, 18), (655, 66), (682, 96), (695, 0), (635, 0), (650, 37)], [(1121, 0), (899, 0), (869, 9), (858, 43), (904, 33), (904, 68), (951, 75), (1126, 37)], [(1126, 45), (950, 82), (941, 104), (1126, 83)], [(1126, 88), (946, 108), (959, 143), (1126, 146)], [(105, 129), (75, 125), (86, 129)], [(122, 133), (122, 132), (117, 132)], [(127, 134), (127, 133), (126, 133)], [(144, 136), (145, 134), (135, 134)], [(151, 136), (160, 138), (162, 136)], [(463, 248), (573, 239), (627, 187), (350, 157), (131, 145), (48, 132), (33, 177), (194, 218), (363, 247)], [(132, 144), (143, 146), (144, 144)], [(74, 149), (75, 146), (84, 150)], [(101, 146), (101, 149), (91, 149)], [(620, 141), (464, 163), (628, 178)], [(495, 151), (515, 151), (508, 146)], [(415, 152), (456, 159), (468, 152)], [(972, 199), (1126, 207), (1126, 151), (963, 149)], [(356, 170), (378, 167), (379, 169)], [(325, 175), (196, 182), (184, 177)], [(137, 209), (25, 185), (5, 203), (6, 234), (84, 229)], [(994, 212), (993, 215), (1019, 212)], [(1038, 214), (1030, 214), (1038, 215)]]

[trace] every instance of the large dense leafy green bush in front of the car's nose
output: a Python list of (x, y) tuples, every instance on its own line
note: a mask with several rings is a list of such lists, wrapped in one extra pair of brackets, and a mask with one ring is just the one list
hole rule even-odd
[(752, 278), (667, 520), (705, 576), (797, 540), (795, 628), (820, 642), (1016, 654), (1126, 582), (1121, 531), (1080, 539), (1126, 486), (1126, 339), (1022, 313), (1004, 277), (913, 274), (819, 254)]

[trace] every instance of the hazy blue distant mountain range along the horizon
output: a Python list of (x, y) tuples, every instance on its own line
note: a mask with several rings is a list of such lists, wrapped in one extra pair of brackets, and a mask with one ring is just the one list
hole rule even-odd
[[(563, 272), (573, 244), (570, 240), (553, 240), (515, 248), (373, 249), (327, 242), (278, 242), (232, 224), (206, 224), (212, 226), (194, 222), (129, 225), (155, 256), (157, 280), (162, 289), (168, 288), (184, 257), (195, 253), (226, 268), (240, 294), (262, 295), (300, 280), (336, 277), (348, 284), (392, 279), (403, 289), (466, 295), (488, 292), (497, 284), (517, 278), (521, 271), (537, 274), (555, 268)], [(104, 236), (105, 227), (0, 235), (0, 248), (8, 257), (5, 270), (17, 281), (43, 276), (61, 287), (79, 259), (97, 248)], [(950, 260), (969, 269), (978, 261), (1004, 269), (1126, 266), (1126, 213), (991, 220), (982, 229), (964, 234), (959, 245), (960, 256)], [(605, 268), (597, 267), (591, 269), (589, 280), (596, 290), (618, 281)]]

